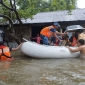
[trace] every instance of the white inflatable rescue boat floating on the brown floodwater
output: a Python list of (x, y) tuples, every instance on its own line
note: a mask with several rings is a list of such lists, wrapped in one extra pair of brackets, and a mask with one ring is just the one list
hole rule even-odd
[(71, 58), (80, 55), (80, 52), (72, 53), (65, 46), (41, 45), (28, 40), (22, 44), (20, 49), (25, 55), (34, 58)]

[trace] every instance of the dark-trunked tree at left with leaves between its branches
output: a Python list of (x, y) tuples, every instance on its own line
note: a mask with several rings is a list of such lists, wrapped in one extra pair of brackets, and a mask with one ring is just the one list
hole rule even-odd
[(20, 34), (21, 34), (21, 38), (22, 38), (22, 22), (21, 19), (18, 15), (18, 12), (16, 10), (16, 5), (15, 5), (15, 0), (0, 0), (0, 6), (1, 6), (1, 11), (2, 14), (0, 13), (0, 17), (3, 17), (0, 21), (3, 21), (4, 19), (6, 19), (7, 21), (9, 21), (9, 26), (8, 29), (5, 30), (6, 34), (10, 37), (12, 37), (13, 39), (16, 40), (16, 42), (18, 44), (20, 44), (20, 40), (14, 35), (14, 27), (13, 27), (13, 21), (12, 21), (12, 13), (14, 13), (16, 15), (16, 19), (19, 21), (20, 23)]

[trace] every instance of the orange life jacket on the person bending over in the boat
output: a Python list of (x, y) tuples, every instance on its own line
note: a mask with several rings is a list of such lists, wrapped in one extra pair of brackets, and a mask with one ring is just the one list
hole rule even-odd
[(53, 35), (53, 32), (50, 31), (50, 28), (54, 28), (54, 26), (49, 26), (49, 27), (45, 27), (41, 30), (40, 34), (50, 38)]

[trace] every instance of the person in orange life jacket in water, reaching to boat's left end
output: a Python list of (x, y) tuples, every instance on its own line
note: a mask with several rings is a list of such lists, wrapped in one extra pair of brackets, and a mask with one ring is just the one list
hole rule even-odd
[(0, 60), (12, 60), (10, 51), (17, 51), (22, 43), (18, 45), (16, 48), (9, 48), (5, 46), (3, 42), (0, 42)]

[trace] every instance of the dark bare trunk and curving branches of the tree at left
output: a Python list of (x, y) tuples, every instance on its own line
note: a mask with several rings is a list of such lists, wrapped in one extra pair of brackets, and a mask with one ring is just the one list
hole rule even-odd
[[(20, 35), (21, 35), (21, 39), (20, 39), (20, 40), (22, 41), (22, 21), (21, 21), (19, 15), (18, 15), (17, 10), (16, 10), (15, 0), (14, 0), (14, 5), (12, 4), (12, 0), (10, 0), (11, 8), (8, 7), (8, 6), (6, 6), (6, 5), (3, 3), (3, 0), (0, 0), (0, 4), (2, 4), (5, 8), (7, 8), (7, 9), (15, 12), (16, 18), (17, 18), (17, 20), (18, 20), (19, 23), (20, 23)], [(9, 20), (9, 22), (10, 22), (10, 24), (11, 24), (10, 30), (11, 30), (11, 32), (12, 32), (12, 30), (13, 30), (12, 20), (11, 20), (10, 18), (8, 18), (7, 16), (3, 16), (3, 17), (4, 17), (4, 18), (7, 18), (7, 19)], [(10, 35), (10, 33), (9, 33), (9, 35)], [(16, 40), (16, 42), (17, 42), (18, 44), (20, 43), (19, 39), (17, 39), (13, 34), (11, 34), (11, 36)]]

